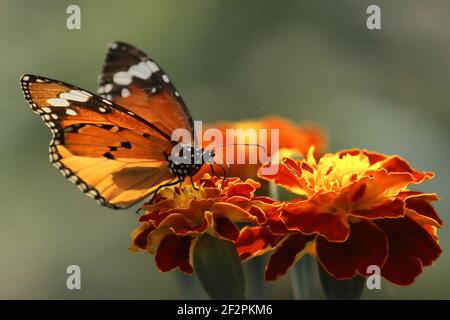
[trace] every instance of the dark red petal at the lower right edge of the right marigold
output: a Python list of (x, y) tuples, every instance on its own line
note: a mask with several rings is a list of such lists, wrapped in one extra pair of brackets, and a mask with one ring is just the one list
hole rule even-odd
[(397, 285), (409, 285), (441, 254), (439, 244), (409, 217), (381, 219), (376, 224), (388, 238), (389, 256), (381, 270), (384, 278)]

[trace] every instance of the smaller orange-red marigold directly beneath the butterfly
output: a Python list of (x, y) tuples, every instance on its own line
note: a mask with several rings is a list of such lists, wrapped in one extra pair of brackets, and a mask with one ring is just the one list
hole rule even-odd
[(132, 233), (132, 251), (155, 255), (159, 270), (179, 268), (193, 272), (192, 252), (196, 239), (208, 233), (235, 241), (239, 236), (236, 222), (253, 224), (266, 221), (265, 210), (274, 208), (270, 199), (254, 196), (259, 183), (248, 179), (223, 181), (205, 175), (196, 190), (192, 185), (166, 188), (152, 203), (144, 204), (140, 225)]

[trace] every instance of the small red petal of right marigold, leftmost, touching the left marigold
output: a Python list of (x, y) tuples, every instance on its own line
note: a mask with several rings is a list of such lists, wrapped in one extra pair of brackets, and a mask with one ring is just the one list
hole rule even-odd
[(280, 236), (265, 227), (244, 227), (236, 240), (236, 250), (241, 260), (258, 256), (273, 248)]

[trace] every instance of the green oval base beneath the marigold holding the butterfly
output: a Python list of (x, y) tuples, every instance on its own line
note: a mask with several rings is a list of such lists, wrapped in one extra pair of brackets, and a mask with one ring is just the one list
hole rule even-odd
[(194, 248), (194, 268), (211, 299), (245, 299), (244, 271), (232, 242), (201, 236)]

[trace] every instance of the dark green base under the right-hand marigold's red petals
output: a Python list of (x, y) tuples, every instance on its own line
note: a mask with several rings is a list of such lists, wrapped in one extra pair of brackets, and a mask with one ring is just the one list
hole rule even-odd
[(349, 280), (337, 280), (318, 263), (320, 282), (329, 300), (359, 300), (364, 292), (366, 278), (357, 275)]

